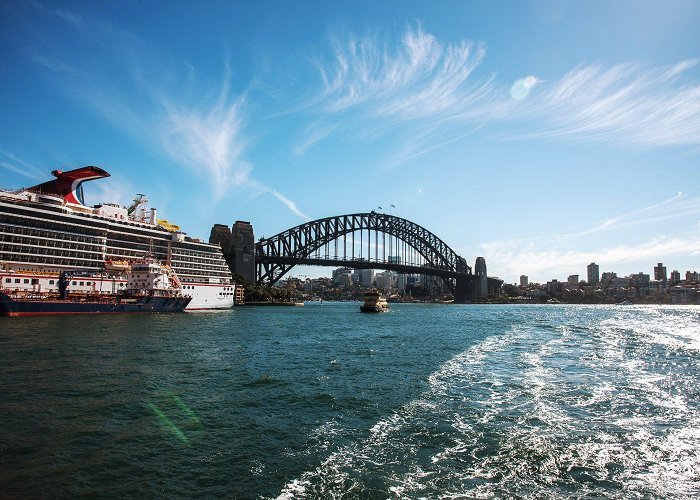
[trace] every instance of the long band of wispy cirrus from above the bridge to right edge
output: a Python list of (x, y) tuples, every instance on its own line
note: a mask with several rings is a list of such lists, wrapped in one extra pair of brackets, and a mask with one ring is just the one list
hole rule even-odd
[(688, 75), (697, 60), (652, 68), (582, 64), (560, 78), (530, 75), (513, 83), (479, 75), (485, 57), (482, 43), (441, 43), (421, 26), (393, 43), (334, 38), (330, 53), (314, 61), (319, 85), (307, 112), (315, 121), (296, 154), (357, 130), (400, 136), (396, 163), (481, 128), (501, 140), (700, 146), (700, 84)]

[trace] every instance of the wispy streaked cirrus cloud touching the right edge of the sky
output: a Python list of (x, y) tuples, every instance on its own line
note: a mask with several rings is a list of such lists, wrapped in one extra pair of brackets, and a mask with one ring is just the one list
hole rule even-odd
[(700, 146), (700, 84), (684, 80), (697, 60), (647, 69), (580, 66), (544, 82), (516, 119), (529, 137), (569, 137), (629, 146)]

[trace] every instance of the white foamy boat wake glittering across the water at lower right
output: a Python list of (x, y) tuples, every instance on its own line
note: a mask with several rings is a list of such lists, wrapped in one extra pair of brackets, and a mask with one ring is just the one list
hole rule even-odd
[(615, 318), (512, 327), (278, 498), (697, 496), (698, 338)]

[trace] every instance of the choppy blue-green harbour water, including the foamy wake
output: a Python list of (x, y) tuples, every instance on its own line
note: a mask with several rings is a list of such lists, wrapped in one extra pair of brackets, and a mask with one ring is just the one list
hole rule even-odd
[(700, 308), (0, 321), (0, 496), (697, 497)]

